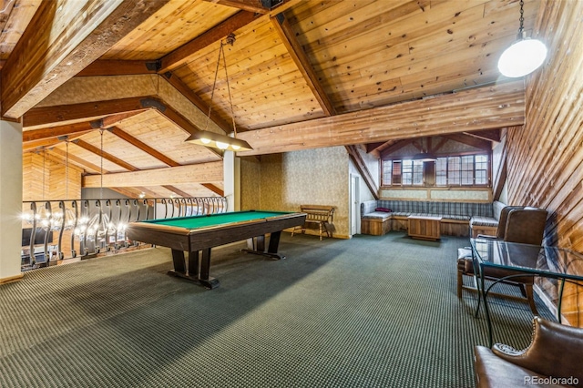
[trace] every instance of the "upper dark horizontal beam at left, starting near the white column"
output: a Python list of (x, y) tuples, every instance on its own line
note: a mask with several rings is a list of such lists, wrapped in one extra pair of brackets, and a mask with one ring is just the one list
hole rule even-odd
[(85, 117), (101, 117), (121, 113), (142, 111), (145, 99), (149, 97), (129, 97), (109, 101), (85, 102), (55, 107), (33, 107), (23, 117), (23, 127), (37, 127)]

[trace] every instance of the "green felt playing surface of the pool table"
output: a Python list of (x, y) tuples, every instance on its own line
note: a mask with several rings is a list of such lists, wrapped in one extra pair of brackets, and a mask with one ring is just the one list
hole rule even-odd
[(233, 211), (229, 213), (220, 214), (210, 214), (202, 216), (190, 216), (190, 217), (179, 217), (175, 219), (161, 219), (161, 220), (145, 220), (142, 222), (153, 224), (153, 225), (166, 225), (177, 228), (184, 228), (188, 230), (216, 227), (220, 225), (227, 225), (235, 222), (245, 222), (251, 220), (264, 220), (270, 219), (272, 217), (280, 217), (288, 214), (293, 214), (290, 212), (282, 211), (263, 211), (263, 210), (253, 210), (253, 211)]

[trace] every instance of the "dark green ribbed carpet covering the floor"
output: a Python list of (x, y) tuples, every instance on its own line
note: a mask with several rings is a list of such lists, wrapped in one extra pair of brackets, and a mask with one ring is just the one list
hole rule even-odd
[[(212, 291), (168, 276), (165, 248), (30, 271), (0, 287), (0, 386), (472, 387), (468, 242), (285, 234), (286, 260), (213, 250)], [(490, 306), (495, 342), (527, 346), (527, 304)]]

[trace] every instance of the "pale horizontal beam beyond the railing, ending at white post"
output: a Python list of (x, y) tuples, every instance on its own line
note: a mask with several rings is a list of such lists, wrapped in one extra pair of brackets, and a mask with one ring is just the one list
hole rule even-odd
[[(99, 188), (100, 180), (100, 175), (87, 175), (83, 179), (83, 187)], [(189, 166), (110, 173), (103, 176), (103, 186), (107, 188), (165, 185), (179, 186), (192, 183), (220, 182), (222, 180), (222, 161), (216, 161)]]

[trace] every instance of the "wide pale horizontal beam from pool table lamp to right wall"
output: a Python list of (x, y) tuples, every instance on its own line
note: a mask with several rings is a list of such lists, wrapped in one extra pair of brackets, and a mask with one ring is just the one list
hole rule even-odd
[(241, 132), (239, 156), (503, 128), (525, 121), (524, 82), (476, 87), (386, 107)]

